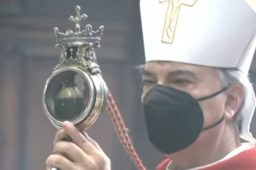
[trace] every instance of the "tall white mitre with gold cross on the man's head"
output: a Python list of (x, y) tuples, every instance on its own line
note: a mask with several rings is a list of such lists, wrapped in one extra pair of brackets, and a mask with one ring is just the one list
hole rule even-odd
[[(141, 0), (146, 62), (171, 61), (236, 68), (246, 75), (256, 47), (256, 0)], [(251, 88), (240, 137), (254, 141)]]

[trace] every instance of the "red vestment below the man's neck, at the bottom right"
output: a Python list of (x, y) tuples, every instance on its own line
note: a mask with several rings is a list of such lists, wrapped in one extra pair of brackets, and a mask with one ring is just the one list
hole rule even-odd
[[(165, 159), (156, 169), (166, 170), (166, 166), (170, 161), (170, 159)], [(217, 164), (200, 170), (256, 170), (256, 147), (247, 149), (230, 159), (226, 159), (223, 162), (218, 162)]]

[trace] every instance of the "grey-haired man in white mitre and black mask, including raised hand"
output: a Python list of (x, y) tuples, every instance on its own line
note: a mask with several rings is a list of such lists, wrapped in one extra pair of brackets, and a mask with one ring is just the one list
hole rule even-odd
[[(252, 4), (141, 0), (146, 128), (168, 157), (159, 170), (256, 169), (249, 130), (256, 100), (247, 78), (256, 47)], [(65, 135), (75, 144), (60, 142)], [(60, 154), (48, 157), (48, 166), (110, 169), (97, 143), (71, 123), (57, 133), (54, 153)]]

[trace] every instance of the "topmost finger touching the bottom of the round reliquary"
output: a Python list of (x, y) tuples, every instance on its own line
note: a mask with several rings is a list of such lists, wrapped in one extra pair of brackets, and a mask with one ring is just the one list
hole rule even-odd
[(72, 142), (74, 142), (76, 145), (81, 145), (88, 140), (82, 135), (82, 133), (75, 128), (73, 123), (65, 121), (63, 123), (63, 130), (65, 133), (72, 138)]

